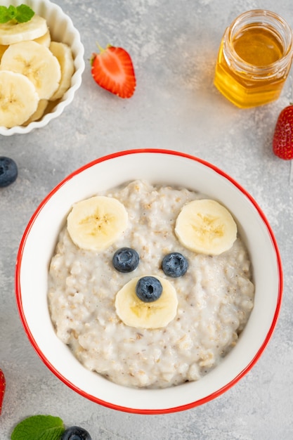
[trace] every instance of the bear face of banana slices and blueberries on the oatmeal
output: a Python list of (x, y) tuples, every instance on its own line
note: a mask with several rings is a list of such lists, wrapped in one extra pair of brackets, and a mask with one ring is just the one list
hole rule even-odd
[[(77, 202), (67, 216), (72, 242), (83, 250), (103, 252), (121, 238), (128, 228), (126, 207), (116, 198), (98, 195)], [(176, 218), (174, 235), (186, 249), (219, 255), (233, 246), (237, 226), (230, 212), (215, 200), (192, 200), (183, 205)], [(135, 276), (140, 256), (132, 247), (120, 247), (112, 256), (112, 268), (134, 276), (117, 290), (115, 309), (125, 325), (135, 328), (163, 328), (177, 313), (178, 298), (172, 278), (184, 276), (188, 259), (181, 252), (168, 252), (159, 262), (162, 276)], [(158, 264), (156, 263), (157, 267)]]

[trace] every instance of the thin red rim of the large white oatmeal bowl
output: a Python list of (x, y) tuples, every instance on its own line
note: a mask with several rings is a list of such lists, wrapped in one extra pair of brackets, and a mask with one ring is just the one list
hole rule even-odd
[[(51, 199), (51, 197), (58, 191), (58, 189), (61, 186), (63, 186), (67, 181), (70, 181), (70, 179), (72, 179), (77, 174), (80, 174), (81, 172), (83, 172), (84, 169), (88, 169), (88, 168), (92, 167), (93, 165), (96, 165), (100, 162), (104, 162), (106, 160), (113, 159), (115, 157), (119, 157), (119, 156), (123, 156), (123, 155), (133, 155), (136, 153), (139, 153), (139, 154), (141, 154), (141, 153), (147, 153), (147, 154), (148, 153), (159, 153), (159, 154), (177, 155), (180, 157), (185, 157), (187, 159), (194, 160), (195, 162), (199, 162), (200, 164), (203, 164), (206, 167), (209, 167), (214, 172), (216, 172), (217, 174), (223, 176), (225, 179), (230, 181), (230, 183), (233, 183), (233, 185), (238, 190), (240, 190), (240, 192), (242, 194), (244, 194), (250, 200), (250, 202), (252, 202), (252, 205), (254, 205), (255, 209), (259, 212), (259, 216), (261, 216), (261, 219), (262, 219), (263, 223), (266, 225), (266, 228), (268, 230), (268, 235), (270, 235), (270, 237), (271, 237), (273, 247), (275, 249), (276, 260), (278, 263), (278, 280), (279, 280), (278, 301), (276, 304), (275, 313), (273, 316), (273, 321), (271, 323), (270, 329), (268, 330), (266, 338), (263, 340), (263, 344), (261, 345), (261, 347), (257, 351), (257, 353), (254, 356), (254, 358), (252, 359), (252, 361), (246, 366), (246, 368), (244, 368), (241, 371), (241, 373), (239, 375), (237, 375), (233, 380), (228, 382), (228, 384), (226, 384), (224, 387), (221, 387), (221, 389), (218, 389), (216, 392), (213, 392), (213, 393), (209, 394), (208, 396), (205, 396), (202, 399), (198, 399), (197, 401), (193, 401), (193, 402), (187, 403), (185, 405), (176, 406), (176, 407), (172, 407), (172, 408), (165, 408), (165, 409), (159, 408), (159, 409), (148, 410), (148, 409), (142, 409), (142, 408), (128, 408), (128, 407), (124, 407), (124, 406), (118, 406), (114, 403), (110, 403), (108, 401), (103, 401), (101, 399), (98, 399), (96, 396), (91, 396), (90, 394), (84, 392), (82, 389), (79, 389), (78, 387), (76, 387), (74, 384), (72, 384), (72, 382), (68, 381), (65, 377), (63, 377), (63, 375), (61, 375), (58, 372), (58, 370), (56, 370), (56, 368), (54, 368), (54, 366), (48, 361), (46, 356), (44, 356), (44, 354), (41, 352), (41, 350), (39, 349), (39, 346), (37, 345), (37, 342), (34, 339), (34, 336), (32, 335), (32, 332), (30, 331), (30, 327), (27, 324), (27, 320), (25, 318), (25, 313), (22, 308), (22, 295), (21, 295), (21, 286), (20, 286), (20, 271), (21, 271), (21, 264), (22, 264), (22, 253), (23, 253), (23, 250), (25, 247), (27, 236), (30, 233), (30, 229), (32, 228), (32, 226), (34, 224), (34, 221), (37, 219), (37, 216), (39, 215), (39, 212), (41, 211), (41, 209), (44, 207), (44, 205), (46, 205), (48, 200)], [(53, 188), (53, 190), (51, 190), (51, 192), (48, 193), (48, 195), (46, 195), (44, 200), (41, 202), (39, 207), (37, 207), (36, 211), (32, 215), (32, 218), (30, 219), (29, 223), (27, 224), (27, 227), (25, 228), (25, 232), (22, 235), (22, 239), (20, 241), (20, 247), (19, 247), (18, 255), (17, 255), (17, 259), (16, 259), (16, 264), (15, 264), (15, 295), (16, 295), (16, 302), (17, 302), (17, 306), (18, 306), (18, 313), (20, 315), (20, 320), (22, 321), (22, 325), (25, 328), (25, 332), (27, 334), (28, 339), (30, 340), (30, 343), (32, 344), (32, 347), (34, 347), (35, 351), (37, 351), (37, 354), (39, 355), (41, 360), (45, 363), (45, 365), (49, 368), (49, 370), (51, 370), (51, 372), (54, 375), (56, 375), (56, 377), (58, 377), (64, 384), (66, 384), (68, 387), (73, 389), (75, 392), (84, 396), (86, 399), (89, 399), (95, 403), (99, 403), (100, 405), (103, 405), (108, 408), (112, 408), (112, 409), (119, 410), (119, 411), (124, 411), (126, 413), (137, 413), (137, 414), (164, 414), (164, 413), (174, 413), (174, 412), (178, 412), (178, 411), (188, 410), (190, 408), (194, 408), (195, 406), (200, 406), (200, 405), (207, 403), (213, 399), (216, 399), (216, 397), (220, 396), (224, 392), (228, 391), (228, 389), (233, 387), (256, 364), (256, 362), (261, 357), (261, 354), (263, 353), (264, 349), (266, 348), (269, 340), (271, 339), (271, 336), (273, 335), (275, 325), (278, 321), (278, 315), (280, 313), (280, 306), (281, 306), (281, 302), (282, 302), (282, 286), (283, 286), (282, 262), (281, 262), (281, 258), (280, 258), (280, 252), (278, 250), (278, 245), (275, 240), (275, 236), (273, 234), (273, 230), (272, 230), (271, 226), (268, 224), (268, 220), (266, 219), (266, 216), (263, 214), (263, 211), (261, 210), (261, 208), (259, 207), (257, 202), (254, 200), (254, 198), (252, 198), (252, 196), (249, 193), (247, 193), (247, 190), (245, 190), (245, 188), (242, 188), (242, 186), (239, 183), (237, 183), (237, 181), (235, 181), (233, 178), (228, 176), (228, 174), (226, 174), (221, 169), (214, 166), (213, 164), (210, 164), (209, 162), (207, 162), (205, 160), (202, 160), (202, 159), (195, 157), (193, 155), (189, 155), (187, 153), (181, 153), (181, 152), (177, 152), (177, 151), (173, 151), (173, 150), (163, 150), (160, 148), (124, 150), (124, 151), (119, 151), (117, 153), (112, 153), (110, 155), (105, 155), (103, 157), (99, 157), (96, 160), (93, 160), (92, 162), (89, 162), (88, 164), (84, 165), (83, 167), (80, 167), (79, 169), (76, 169), (74, 172), (72, 172), (67, 177), (65, 177), (65, 179), (63, 179), (63, 181), (58, 183), (58, 185), (55, 188)]]

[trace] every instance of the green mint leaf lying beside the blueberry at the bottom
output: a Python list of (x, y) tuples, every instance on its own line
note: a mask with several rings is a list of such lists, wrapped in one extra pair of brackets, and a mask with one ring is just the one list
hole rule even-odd
[(13, 429), (11, 440), (60, 440), (63, 421), (53, 415), (32, 415)]

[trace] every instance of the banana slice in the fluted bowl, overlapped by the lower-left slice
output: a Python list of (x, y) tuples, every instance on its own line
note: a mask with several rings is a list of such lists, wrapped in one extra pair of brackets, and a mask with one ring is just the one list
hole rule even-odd
[(61, 79), (57, 58), (46, 46), (35, 41), (11, 44), (1, 58), (0, 68), (29, 78), (40, 99), (51, 98)]

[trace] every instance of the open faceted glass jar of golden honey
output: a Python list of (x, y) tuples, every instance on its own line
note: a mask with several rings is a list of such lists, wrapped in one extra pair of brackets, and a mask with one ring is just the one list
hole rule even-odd
[(292, 56), (287, 22), (271, 11), (247, 11), (223, 34), (214, 85), (240, 108), (271, 103), (280, 96)]

